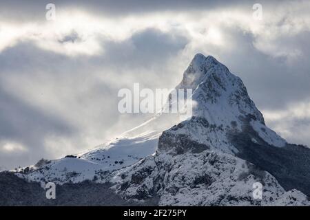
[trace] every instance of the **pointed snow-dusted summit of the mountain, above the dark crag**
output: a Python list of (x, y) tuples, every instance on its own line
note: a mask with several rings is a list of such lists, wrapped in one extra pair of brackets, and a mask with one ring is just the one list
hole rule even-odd
[(230, 126), (231, 121), (246, 115), (254, 115), (265, 124), (242, 80), (214, 56), (196, 54), (176, 88), (193, 89), (194, 115), (206, 118), (212, 124)]

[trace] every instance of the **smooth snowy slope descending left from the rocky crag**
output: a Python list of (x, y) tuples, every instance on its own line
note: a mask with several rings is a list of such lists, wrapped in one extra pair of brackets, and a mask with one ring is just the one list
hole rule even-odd
[(53, 181), (55, 184), (78, 183), (85, 179), (101, 181), (112, 170), (132, 165), (154, 153), (160, 134), (123, 137), (83, 155), (55, 159), (39, 168), (21, 168), (17, 175), (28, 181)]

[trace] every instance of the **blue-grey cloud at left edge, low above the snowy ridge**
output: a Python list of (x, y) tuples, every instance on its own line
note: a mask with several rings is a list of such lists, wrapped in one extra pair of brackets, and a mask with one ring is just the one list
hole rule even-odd
[(0, 138), (38, 147), (45, 133), (68, 135), (72, 132), (72, 127), (61, 118), (43, 113), (3, 90), (0, 91), (0, 111)]

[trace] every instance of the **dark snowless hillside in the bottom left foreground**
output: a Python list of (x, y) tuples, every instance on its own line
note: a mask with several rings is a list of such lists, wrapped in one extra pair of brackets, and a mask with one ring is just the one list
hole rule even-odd
[[(79, 184), (56, 186), (56, 199), (46, 199), (40, 184), (27, 182), (8, 172), (0, 173), (0, 206), (139, 206), (121, 199), (109, 184), (83, 181)], [(143, 206), (156, 206), (146, 201)]]

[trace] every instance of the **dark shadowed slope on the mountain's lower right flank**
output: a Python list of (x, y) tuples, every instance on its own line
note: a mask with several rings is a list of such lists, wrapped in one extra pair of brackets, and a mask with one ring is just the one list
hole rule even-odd
[(238, 149), (238, 157), (271, 173), (285, 190), (296, 188), (310, 196), (309, 148), (297, 144), (273, 147), (259, 137), (247, 120), (242, 132), (231, 132), (229, 139)]

